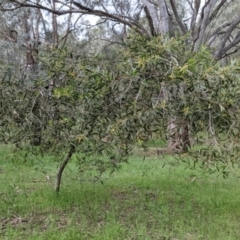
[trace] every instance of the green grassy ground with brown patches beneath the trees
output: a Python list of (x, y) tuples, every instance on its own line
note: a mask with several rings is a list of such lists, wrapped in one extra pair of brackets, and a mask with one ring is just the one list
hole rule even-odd
[(57, 196), (55, 163), (9, 154), (0, 153), (1, 239), (240, 239), (238, 179), (132, 157), (103, 184), (69, 165)]

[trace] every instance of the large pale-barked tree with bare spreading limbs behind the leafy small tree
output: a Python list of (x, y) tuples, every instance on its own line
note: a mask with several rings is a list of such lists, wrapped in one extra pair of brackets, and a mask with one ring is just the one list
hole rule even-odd
[[(111, 22), (112, 31), (121, 32), (121, 39), (127, 34), (129, 28), (134, 28), (140, 35), (149, 38), (161, 34), (165, 36), (187, 34), (186, 44), (192, 51), (199, 51), (203, 45), (206, 45), (217, 61), (236, 53), (239, 49), (239, 16), (234, 14), (227, 19), (223, 18), (225, 12), (237, 6), (236, 1), (100, 0), (91, 3), (72, 0), (69, 2), (57, 1), (56, 3), (55, 1), (47, 3), (39, 0), (25, 2), (11, 0), (7, 6), (3, 5), (2, 9), (7, 11), (19, 7), (30, 7), (46, 10), (53, 16), (65, 14), (98, 16), (103, 22)], [(220, 26), (216, 24), (217, 22), (221, 23)], [(182, 130), (179, 130), (179, 127)], [(189, 134), (185, 132), (187, 128), (184, 119), (178, 119), (177, 116), (169, 119), (168, 129), (172, 140), (170, 147), (188, 148), (190, 140)], [(182, 137), (179, 131), (187, 136), (182, 143), (179, 140), (181, 138), (183, 140), (185, 137)]]

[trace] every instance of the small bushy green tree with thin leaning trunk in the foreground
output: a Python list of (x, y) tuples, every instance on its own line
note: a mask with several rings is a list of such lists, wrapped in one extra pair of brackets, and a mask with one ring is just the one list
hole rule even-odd
[(1, 142), (55, 155), (62, 170), (80, 153), (80, 169), (102, 173), (153, 134), (165, 139), (174, 118), (203, 146), (189, 152), (203, 166), (237, 161), (239, 64), (221, 66), (207, 48), (193, 52), (185, 42), (132, 31), (115, 61), (49, 47), (37, 72), (1, 65)]

